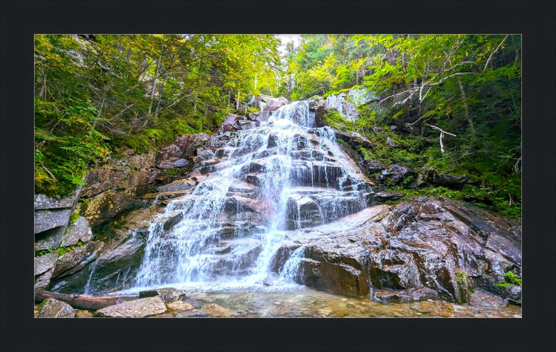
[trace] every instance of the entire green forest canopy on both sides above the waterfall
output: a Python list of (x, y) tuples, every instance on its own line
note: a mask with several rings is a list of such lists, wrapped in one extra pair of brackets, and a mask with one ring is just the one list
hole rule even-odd
[(71, 192), (122, 146), (211, 133), (258, 94), (353, 88), (376, 101), (354, 122), (327, 117), (377, 144), (366, 158), (467, 174), (463, 190), (418, 192), (521, 214), (520, 35), (36, 35), (35, 192)]

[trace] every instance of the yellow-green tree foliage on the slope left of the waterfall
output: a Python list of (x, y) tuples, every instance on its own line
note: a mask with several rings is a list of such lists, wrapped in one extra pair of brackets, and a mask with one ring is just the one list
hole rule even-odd
[(37, 193), (68, 194), (121, 146), (142, 153), (213, 131), (231, 97), (277, 89), (273, 35), (89, 39), (35, 35)]

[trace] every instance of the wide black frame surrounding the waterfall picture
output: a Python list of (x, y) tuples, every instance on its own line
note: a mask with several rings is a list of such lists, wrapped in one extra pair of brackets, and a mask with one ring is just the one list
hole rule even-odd
[[(1, 1), (2, 351), (555, 351), (554, 1)], [(523, 318), (34, 319), (33, 34), (523, 35)]]

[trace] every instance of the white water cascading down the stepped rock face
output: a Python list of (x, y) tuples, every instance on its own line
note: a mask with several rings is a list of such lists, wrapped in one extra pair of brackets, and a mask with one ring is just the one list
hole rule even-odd
[[(181, 220), (170, 230), (151, 224), (136, 287), (261, 285), (300, 229), (366, 208), (368, 183), (334, 131), (314, 124), (309, 102), (297, 101), (268, 123), (213, 138), (216, 150), (192, 174), (204, 180), (158, 215)], [(302, 248), (278, 269), (284, 285)]]

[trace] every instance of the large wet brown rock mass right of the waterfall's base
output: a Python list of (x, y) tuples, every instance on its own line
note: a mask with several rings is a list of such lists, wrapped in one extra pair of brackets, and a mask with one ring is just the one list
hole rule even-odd
[[(521, 273), (518, 226), (463, 203), (421, 200), (393, 210), (371, 207), (357, 215), (370, 221), (359, 226), (347, 217), (341, 221), (353, 227), (341, 235), (326, 226), (313, 229), (319, 233), (314, 239), (304, 235), (300, 241), (306, 244), (297, 245), (294, 280), (347, 296), (432, 290), (443, 299), (464, 302), (471, 288), (502, 283), (505, 271)], [(288, 236), (295, 238), (295, 233)], [(296, 260), (295, 249), (277, 252), (276, 271), (291, 270), (288, 260)], [(386, 299), (407, 300), (396, 294)]]

